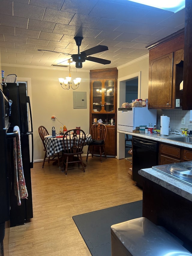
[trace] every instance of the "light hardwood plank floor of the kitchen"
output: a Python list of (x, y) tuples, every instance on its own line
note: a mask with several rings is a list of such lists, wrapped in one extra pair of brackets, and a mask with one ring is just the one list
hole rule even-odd
[(10, 256), (90, 256), (72, 216), (142, 199), (126, 159), (89, 157), (85, 173), (77, 166), (67, 175), (52, 162), (41, 166), (31, 170), (34, 217), (10, 228)]

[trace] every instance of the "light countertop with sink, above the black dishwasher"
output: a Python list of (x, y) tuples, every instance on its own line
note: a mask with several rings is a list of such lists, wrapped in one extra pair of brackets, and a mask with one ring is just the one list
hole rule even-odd
[(129, 131), (120, 131), (120, 130), (117, 130), (117, 132), (124, 133), (124, 134), (129, 134), (131, 136), (140, 137), (140, 138), (143, 138), (143, 139), (155, 140), (155, 141), (159, 141), (161, 143), (168, 143), (168, 144), (172, 144), (172, 145), (175, 145), (175, 146), (182, 146), (182, 147), (185, 147), (185, 148), (192, 149), (192, 144), (190, 144), (190, 143), (171, 140), (171, 138), (178, 137), (179, 135), (170, 134), (168, 136), (166, 136), (166, 135), (159, 136), (157, 134), (133, 133), (133, 132), (129, 132)]

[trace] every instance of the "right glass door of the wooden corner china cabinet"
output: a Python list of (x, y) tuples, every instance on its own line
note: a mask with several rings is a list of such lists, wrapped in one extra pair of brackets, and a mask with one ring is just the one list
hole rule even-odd
[(105, 112), (115, 112), (115, 79), (104, 82), (104, 110)]

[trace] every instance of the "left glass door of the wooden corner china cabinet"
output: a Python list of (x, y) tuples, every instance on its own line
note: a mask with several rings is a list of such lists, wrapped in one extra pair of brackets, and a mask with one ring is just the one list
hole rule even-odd
[(102, 80), (92, 83), (92, 113), (102, 110)]

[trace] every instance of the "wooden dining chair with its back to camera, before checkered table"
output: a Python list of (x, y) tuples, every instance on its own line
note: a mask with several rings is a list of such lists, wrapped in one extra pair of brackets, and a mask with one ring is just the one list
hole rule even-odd
[(85, 144), (86, 134), (81, 129), (71, 129), (64, 133), (63, 135), (63, 161), (62, 167), (65, 164), (65, 174), (67, 175), (68, 164), (77, 163), (82, 165), (83, 172), (85, 172), (85, 167), (82, 160), (83, 146)]

